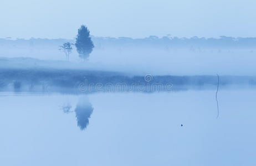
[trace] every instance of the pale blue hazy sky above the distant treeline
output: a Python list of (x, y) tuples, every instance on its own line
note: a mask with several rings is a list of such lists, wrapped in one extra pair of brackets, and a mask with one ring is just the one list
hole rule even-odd
[(254, 0), (1, 0), (0, 38), (256, 37)]

